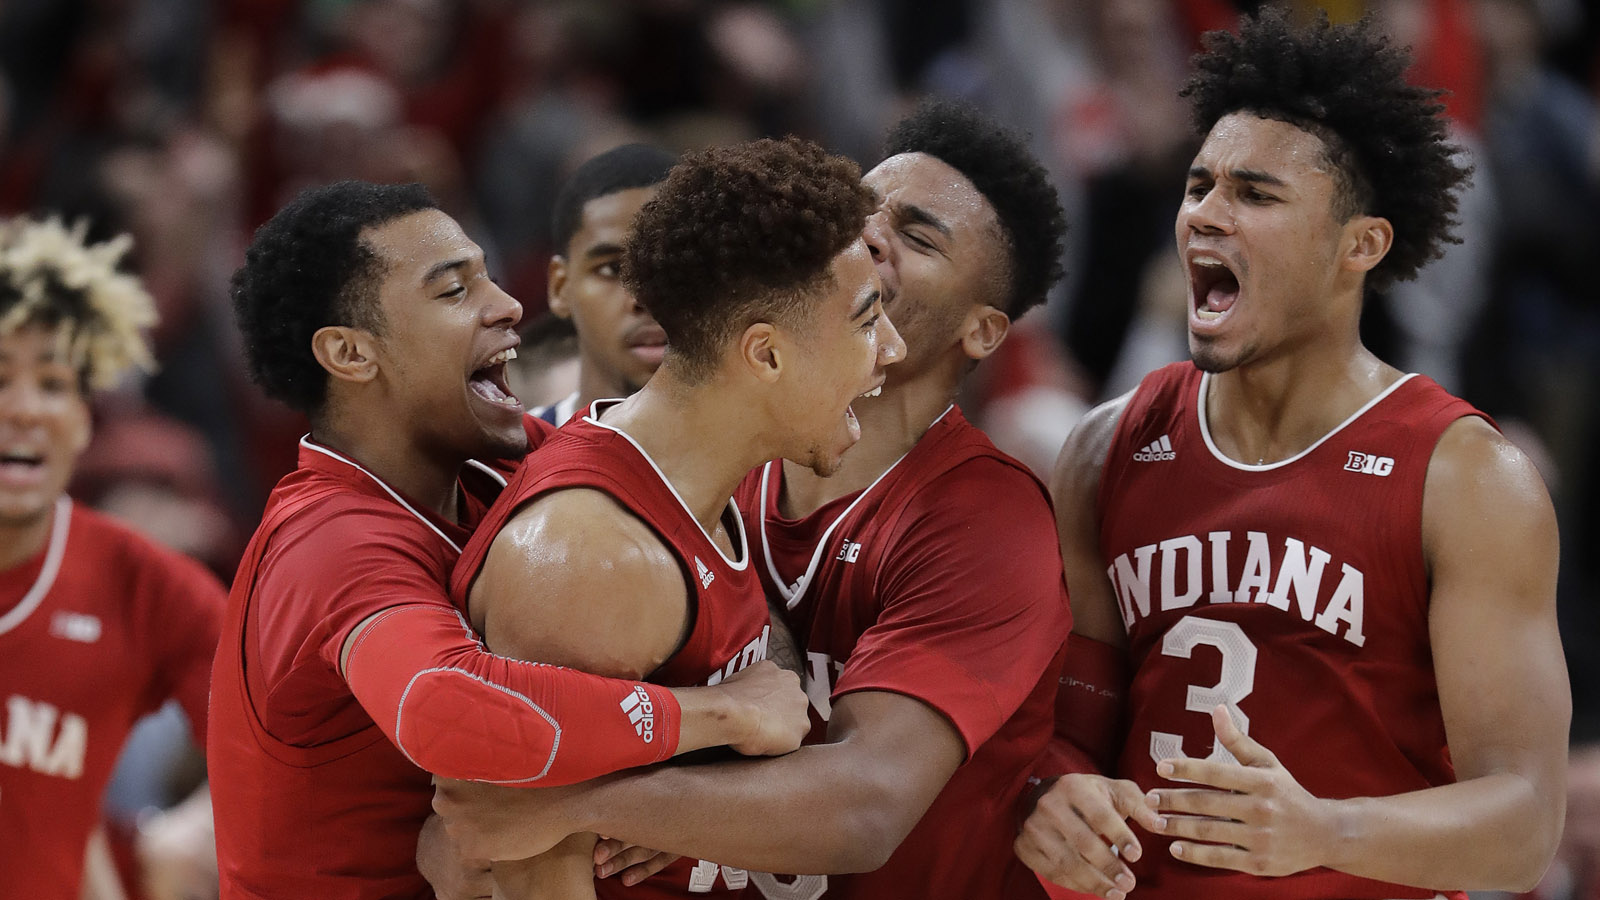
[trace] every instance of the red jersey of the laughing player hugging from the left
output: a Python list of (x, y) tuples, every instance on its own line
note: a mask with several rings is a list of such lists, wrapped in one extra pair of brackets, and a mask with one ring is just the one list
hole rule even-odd
[(464, 469), (462, 520), (406, 503), (360, 464), (301, 442), (229, 597), (208, 767), (222, 897), (432, 898), (416, 836), (429, 773), (339, 674), (344, 639), (397, 602), (438, 597), (499, 482)]

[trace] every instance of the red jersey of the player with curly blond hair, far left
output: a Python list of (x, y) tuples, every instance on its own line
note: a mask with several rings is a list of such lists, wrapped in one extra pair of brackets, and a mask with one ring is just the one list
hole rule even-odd
[(205, 735), (222, 585), (67, 498), (0, 573), (0, 900), (78, 900), (133, 724), (176, 698)]

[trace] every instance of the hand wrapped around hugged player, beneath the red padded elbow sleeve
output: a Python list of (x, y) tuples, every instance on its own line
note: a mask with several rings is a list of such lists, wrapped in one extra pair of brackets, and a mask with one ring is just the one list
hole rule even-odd
[(587, 831), (566, 815), (566, 802), (582, 791), (582, 785), (517, 790), (434, 778), (434, 812), (462, 858), (525, 860)]

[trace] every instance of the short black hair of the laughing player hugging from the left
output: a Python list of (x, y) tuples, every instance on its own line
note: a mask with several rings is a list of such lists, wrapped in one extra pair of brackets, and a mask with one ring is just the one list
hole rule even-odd
[(312, 356), (312, 335), (382, 328), (379, 259), (362, 231), (437, 208), (421, 184), (339, 181), (301, 192), (256, 229), (232, 295), (250, 375), (269, 397), (322, 412), (328, 372)]

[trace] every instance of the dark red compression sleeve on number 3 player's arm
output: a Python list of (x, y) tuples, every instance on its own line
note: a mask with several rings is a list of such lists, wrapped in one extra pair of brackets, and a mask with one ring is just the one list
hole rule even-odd
[(1067, 660), (1056, 693), (1056, 733), (1038, 775), (1110, 773), (1123, 741), (1128, 698), (1128, 653), (1080, 634), (1067, 636)]

